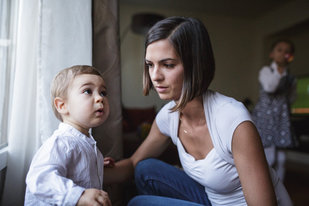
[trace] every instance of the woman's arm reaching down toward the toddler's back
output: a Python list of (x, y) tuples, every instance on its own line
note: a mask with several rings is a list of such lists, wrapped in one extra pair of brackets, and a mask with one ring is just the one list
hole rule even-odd
[(139, 161), (159, 157), (170, 142), (171, 138), (163, 135), (154, 121), (149, 135), (130, 158), (116, 162), (114, 167), (104, 168), (103, 184), (115, 184), (132, 179), (134, 168)]

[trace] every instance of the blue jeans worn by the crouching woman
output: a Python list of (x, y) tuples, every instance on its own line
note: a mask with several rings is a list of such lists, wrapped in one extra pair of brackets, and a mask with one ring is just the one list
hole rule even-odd
[(204, 186), (184, 171), (156, 159), (136, 165), (135, 183), (140, 195), (154, 196), (137, 196), (129, 205), (211, 205)]

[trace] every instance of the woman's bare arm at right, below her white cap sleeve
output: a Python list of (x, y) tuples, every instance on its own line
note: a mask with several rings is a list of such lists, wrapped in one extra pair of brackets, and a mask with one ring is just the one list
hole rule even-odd
[(252, 122), (242, 122), (235, 129), (232, 153), (247, 204), (277, 206), (263, 144)]

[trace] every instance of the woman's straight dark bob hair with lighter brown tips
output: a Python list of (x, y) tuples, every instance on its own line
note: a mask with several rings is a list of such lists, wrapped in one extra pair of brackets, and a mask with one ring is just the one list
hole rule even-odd
[[(157, 22), (146, 36), (145, 56), (148, 45), (168, 40), (184, 67), (182, 93), (171, 112), (182, 111), (189, 101), (201, 96), (214, 78), (214, 55), (204, 24), (195, 18), (170, 17)], [(143, 94), (154, 89), (146, 62), (144, 63)]]

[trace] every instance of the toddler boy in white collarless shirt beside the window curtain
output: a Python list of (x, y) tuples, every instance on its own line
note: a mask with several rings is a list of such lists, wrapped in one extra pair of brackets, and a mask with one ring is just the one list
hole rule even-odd
[(89, 134), (109, 113), (102, 74), (90, 66), (60, 71), (51, 84), (58, 130), (34, 156), (27, 174), (25, 205), (111, 205), (102, 190), (103, 159)]

